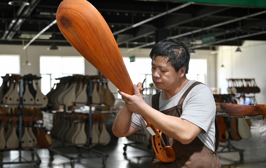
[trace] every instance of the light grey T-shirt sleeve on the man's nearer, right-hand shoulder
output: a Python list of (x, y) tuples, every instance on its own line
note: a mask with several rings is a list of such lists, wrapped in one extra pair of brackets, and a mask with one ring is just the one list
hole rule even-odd
[(211, 90), (206, 85), (196, 85), (186, 96), (183, 103), (182, 119), (202, 128), (205, 134), (215, 117), (215, 101)]

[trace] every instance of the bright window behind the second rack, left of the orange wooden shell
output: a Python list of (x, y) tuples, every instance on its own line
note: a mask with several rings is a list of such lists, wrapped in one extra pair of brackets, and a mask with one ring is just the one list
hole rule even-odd
[(54, 83), (58, 83), (56, 78), (72, 76), (73, 74), (84, 75), (84, 71), (83, 57), (41, 56), (41, 91), (46, 95)]

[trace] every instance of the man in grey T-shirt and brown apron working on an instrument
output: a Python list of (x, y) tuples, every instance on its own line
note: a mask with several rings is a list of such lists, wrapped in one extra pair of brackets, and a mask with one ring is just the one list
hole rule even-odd
[(178, 40), (164, 39), (153, 47), (150, 58), (153, 83), (162, 91), (145, 97), (145, 101), (140, 93), (141, 83), (133, 85), (134, 95), (119, 91), (125, 104), (113, 123), (114, 135), (123, 137), (145, 131), (151, 138), (144, 117), (163, 133), (162, 147), (173, 147), (176, 157), (174, 162), (164, 163), (154, 154), (150, 167), (221, 167), (214, 152), (218, 147), (215, 101), (206, 85), (186, 78), (189, 48)]

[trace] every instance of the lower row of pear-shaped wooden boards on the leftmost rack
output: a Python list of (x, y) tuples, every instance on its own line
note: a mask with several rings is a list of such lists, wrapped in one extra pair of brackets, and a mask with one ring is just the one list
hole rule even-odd
[[(0, 149), (17, 149), (19, 147), (18, 117), (14, 115), (1, 116)], [(40, 118), (23, 116), (22, 148), (48, 148), (52, 144), (51, 137), (38, 123)]]

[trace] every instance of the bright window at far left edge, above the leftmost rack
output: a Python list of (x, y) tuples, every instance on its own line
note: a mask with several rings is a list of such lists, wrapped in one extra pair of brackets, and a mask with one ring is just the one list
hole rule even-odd
[[(0, 55), (0, 75), (20, 74), (20, 56), (19, 55)], [(3, 79), (0, 78), (0, 85)]]

